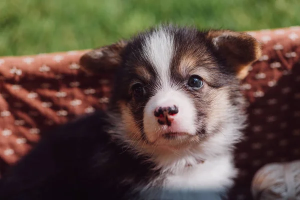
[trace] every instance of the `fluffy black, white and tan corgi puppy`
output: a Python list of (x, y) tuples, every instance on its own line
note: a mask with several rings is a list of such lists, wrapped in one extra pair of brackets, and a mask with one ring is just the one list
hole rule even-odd
[(43, 134), (0, 180), (0, 199), (219, 199), (236, 175), (252, 36), (160, 25), (91, 50), (115, 73), (107, 111)]

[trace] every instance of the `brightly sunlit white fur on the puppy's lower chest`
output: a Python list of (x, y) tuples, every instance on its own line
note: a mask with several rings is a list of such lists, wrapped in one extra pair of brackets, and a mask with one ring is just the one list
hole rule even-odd
[(230, 156), (206, 160), (195, 166), (186, 166), (183, 170), (166, 176), (166, 189), (187, 190), (224, 190), (233, 183), (236, 170)]

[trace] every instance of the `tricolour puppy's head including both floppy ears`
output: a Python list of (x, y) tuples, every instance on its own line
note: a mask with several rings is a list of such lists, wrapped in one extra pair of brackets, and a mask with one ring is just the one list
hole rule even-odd
[(126, 138), (185, 147), (237, 123), (238, 79), (259, 55), (258, 42), (243, 33), (161, 26), (80, 61), (93, 71), (116, 70), (110, 103)]

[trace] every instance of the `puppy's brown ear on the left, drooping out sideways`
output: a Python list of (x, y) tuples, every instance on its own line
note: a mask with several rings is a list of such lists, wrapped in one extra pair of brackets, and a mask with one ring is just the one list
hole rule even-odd
[(89, 73), (114, 71), (121, 63), (121, 52), (126, 44), (126, 41), (121, 40), (111, 45), (90, 50), (80, 57), (79, 64)]

